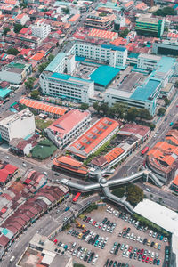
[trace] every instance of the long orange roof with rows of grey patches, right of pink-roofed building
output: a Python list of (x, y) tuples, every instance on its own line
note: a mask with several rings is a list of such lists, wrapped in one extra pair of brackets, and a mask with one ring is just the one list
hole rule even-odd
[(85, 154), (85, 158), (87, 158), (87, 155), (118, 126), (119, 124), (116, 120), (110, 119), (109, 117), (102, 117), (82, 134), (76, 142), (73, 142), (69, 146), (69, 150), (71, 149), (73, 151), (74, 149), (74, 154), (82, 154), (83, 156)]

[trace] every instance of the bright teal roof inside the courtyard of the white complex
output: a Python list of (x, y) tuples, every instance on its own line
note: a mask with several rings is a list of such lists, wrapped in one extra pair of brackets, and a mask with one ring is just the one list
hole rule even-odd
[(91, 79), (95, 84), (107, 86), (116, 77), (119, 69), (110, 66), (101, 66), (91, 74)]

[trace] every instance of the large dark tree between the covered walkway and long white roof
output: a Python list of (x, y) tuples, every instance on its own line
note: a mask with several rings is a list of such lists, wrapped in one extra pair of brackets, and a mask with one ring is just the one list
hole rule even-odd
[(143, 190), (134, 184), (127, 186), (127, 200), (133, 205), (137, 205), (144, 198)]

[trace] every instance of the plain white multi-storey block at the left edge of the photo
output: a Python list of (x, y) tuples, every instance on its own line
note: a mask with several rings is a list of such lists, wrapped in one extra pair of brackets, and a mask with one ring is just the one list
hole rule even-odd
[(35, 117), (29, 109), (23, 109), (0, 120), (0, 134), (7, 142), (11, 142), (13, 138), (27, 138), (35, 134), (35, 130)]

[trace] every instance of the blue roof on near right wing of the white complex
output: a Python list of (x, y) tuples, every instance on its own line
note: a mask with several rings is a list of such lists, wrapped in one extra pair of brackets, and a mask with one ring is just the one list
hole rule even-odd
[(138, 86), (130, 98), (138, 101), (146, 101), (155, 93), (158, 85), (160, 85), (159, 81), (150, 79), (146, 85)]

